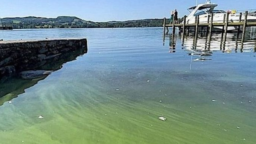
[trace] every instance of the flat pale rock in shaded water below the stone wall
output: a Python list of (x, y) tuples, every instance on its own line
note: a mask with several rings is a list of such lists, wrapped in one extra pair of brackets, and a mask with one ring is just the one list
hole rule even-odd
[(35, 70), (35, 71), (23, 71), (20, 73), (20, 76), (23, 79), (37, 79), (43, 76), (47, 76), (50, 73), (52, 73), (52, 71), (46, 71), (46, 70)]

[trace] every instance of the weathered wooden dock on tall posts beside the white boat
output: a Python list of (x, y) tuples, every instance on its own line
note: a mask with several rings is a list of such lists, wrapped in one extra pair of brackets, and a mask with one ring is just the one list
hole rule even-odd
[[(180, 29), (180, 31), (182, 32), (183, 40), (184, 40), (185, 35), (187, 35), (189, 33), (190, 28), (192, 28), (192, 29), (194, 29), (195, 41), (197, 41), (199, 27), (201, 27), (201, 30), (204, 29), (204, 32), (207, 33), (208, 40), (210, 41), (212, 38), (212, 33), (214, 32), (213, 28), (214, 27), (222, 27), (222, 29), (220, 29), (220, 32), (222, 32), (222, 37), (224, 39), (223, 46), (225, 47), (227, 33), (229, 32), (228, 27), (237, 27), (238, 28), (237, 29), (237, 35), (238, 35), (237, 38), (239, 38), (239, 34), (240, 34), (240, 32), (242, 32), (241, 42), (242, 42), (242, 48), (243, 48), (243, 43), (245, 41), (246, 27), (254, 27), (254, 26), (256, 27), (256, 22), (248, 22), (248, 20), (247, 20), (248, 11), (245, 11), (244, 20), (241, 19), (242, 13), (240, 13), (239, 21), (234, 22), (234, 23), (229, 21), (229, 14), (230, 14), (229, 12), (224, 14), (222, 23), (213, 23), (213, 21), (214, 21), (213, 14), (208, 15), (207, 23), (199, 23), (199, 16), (196, 17), (195, 23), (193, 23), (193, 24), (186, 23), (186, 16), (183, 17), (183, 23), (180, 23), (180, 20), (178, 20), (177, 24), (176, 23), (166, 24), (166, 18), (164, 18), (163, 19), (163, 33), (165, 36), (166, 33), (169, 32), (168, 28), (172, 27), (172, 42), (173, 42), (176, 27), (178, 27)], [(240, 30), (241, 26), (243, 28), (242, 31)], [(166, 29), (167, 29), (167, 32), (166, 32)]]

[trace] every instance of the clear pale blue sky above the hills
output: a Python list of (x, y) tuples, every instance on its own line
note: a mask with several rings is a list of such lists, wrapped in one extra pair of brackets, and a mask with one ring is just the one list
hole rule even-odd
[[(179, 15), (195, 0), (1, 0), (0, 17), (77, 16), (84, 20), (111, 21), (169, 17), (177, 8)], [(205, 0), (198, 0), (204, 3)], [(255, 0), (212, 0), (218, 9), (256, 9)]]

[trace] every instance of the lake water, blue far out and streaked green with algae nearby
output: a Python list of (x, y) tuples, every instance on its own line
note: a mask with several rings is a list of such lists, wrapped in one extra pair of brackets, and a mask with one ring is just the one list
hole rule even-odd
[[(255, 144), (251, 33), (242, 51), (234, 34), (228, 35), (225, 50), (219, 50), (220, 35), (213, 35), (212, 52), (200, 57), (193, 37), (182, 42), (177, 35), (174, 49), (168, 35), (163, 45), (162, 31), (0, 31), (4, 40), (88, 40), (87, 54), (48, 77), (0, 82), (0, 143)], [(196, 49), (205, 43), (200, 37)]]

